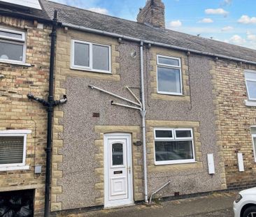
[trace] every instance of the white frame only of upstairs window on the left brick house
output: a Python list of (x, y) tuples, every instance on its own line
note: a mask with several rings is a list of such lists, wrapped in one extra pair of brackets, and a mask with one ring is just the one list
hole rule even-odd
[(24, 64), (26, 63), (26, 50), (27, 50), (27, 45), (26, 45), (26, 33), (23, 31), (15, 31), (12, 29), (4, 29), (0, 27), (0, 31), (6, 31), (9, 33), (17, 33), (22, 36), (22, 38), (14, 38), (11, 36), (1, 36), (0, 35), (0, 41), (3, 43), (10, 43), (10, 44), (15, 44), (15, 45), (23, 45), (23, 54), (22, 54), (22, 61), (14, 60), (14, 59), (0, 59), (0, 62), (3, 63), (15, 63), (15, 64)]

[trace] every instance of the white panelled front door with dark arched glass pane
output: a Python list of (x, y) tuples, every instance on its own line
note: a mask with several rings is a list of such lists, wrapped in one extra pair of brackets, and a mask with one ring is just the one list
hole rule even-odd
[(131, 136), (127, 133), (104, 137), (104, 207), (133, 204)]

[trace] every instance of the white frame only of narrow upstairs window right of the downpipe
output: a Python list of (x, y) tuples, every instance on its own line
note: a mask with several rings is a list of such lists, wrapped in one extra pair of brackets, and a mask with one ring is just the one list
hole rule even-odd
[[(173, 66), (173, 65), (169, 65), (169, 64), (159, 63), (158, 57), (163, 57), (163, 58), (166, 58), (166, 59), (178, 60), (179, 66)], [(164, 67), (164, 68), (174, 68), (174, 69), (180, 70), (180, 93), (168, 92), (168, 91), (159, 91), (159, 89), (158, 89), (158, 66), (159, 67)], [(167, 95), (183, 96), (183, 79), (182, 79), (182, 77), (183, 76), (182, 76), (182, 68), (181, 68), (181, 60), (180, 60), (180, 58), (177, 58), (177, 57), (167, 57), (167, 56), (164, 56), (164, 55), (157, 54), (157, 93), (167, 94)]]

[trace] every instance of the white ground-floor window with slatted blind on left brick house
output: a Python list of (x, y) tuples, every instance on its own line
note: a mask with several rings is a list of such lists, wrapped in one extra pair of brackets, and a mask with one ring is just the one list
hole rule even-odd
[(28, 170), (26, 165), (27, 134), (31, 130), (0, 131), (0, 171)]

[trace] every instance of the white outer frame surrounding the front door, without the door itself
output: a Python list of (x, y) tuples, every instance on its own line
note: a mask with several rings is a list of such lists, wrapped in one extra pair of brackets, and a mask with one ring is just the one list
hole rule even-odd
[[(127, 140), (127, 167), (131, 167), (131, 172), (127, 173), (127, 189), (129, 201), (111, 202), (109, 197), (109, 160), (108, 160), (108, 140), (109, 139), (126, 139)], [(104, 208), (121, 207), (134, 204), (134, 186), (133, 186), (133, 170), (132, 170), (132, 150), (131, 150), (131, 134), (130, 133), (106, 133), (104, 134)]]

